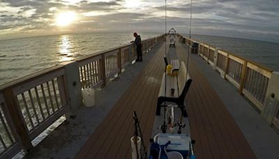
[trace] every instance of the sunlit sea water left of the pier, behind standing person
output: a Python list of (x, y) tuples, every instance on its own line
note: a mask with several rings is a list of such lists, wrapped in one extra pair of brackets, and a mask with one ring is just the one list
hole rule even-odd
[[(142, 40), (160, 36), (160, 33), (139, 34)], [(134, 39), (133, 33), (83, 33), (0, 40), (0, 85)]]

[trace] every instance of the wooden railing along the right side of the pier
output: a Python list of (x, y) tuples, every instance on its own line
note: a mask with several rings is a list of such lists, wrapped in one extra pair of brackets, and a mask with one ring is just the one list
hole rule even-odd
[[(199, 56), (218, 71), (221, 77), (231, 82), (239, 93), (246, 96), (261, 112), (264, 111), (268, 105), (266, 98), (270, 96), (270, 93), (267, 93), (271, 87), (269, 81), (272, 75), (278, 76), (273, 74), (273, 70), (197, 40), (189, 40), (181, 36), (181, 42), (186, 43), (190, 48), (193, 43), (198, 43)], [(276, 113), (272, 121), (279, 128), (279, 111), (278, 108), (274, 110)]]

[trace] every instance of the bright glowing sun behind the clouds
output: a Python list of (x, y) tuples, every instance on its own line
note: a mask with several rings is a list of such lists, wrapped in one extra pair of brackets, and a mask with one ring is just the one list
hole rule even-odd
[(73, 11), (62, 12), (56, 15), (56, 25), (60, 27), (68, 26), (77, 19), (77, 14)]

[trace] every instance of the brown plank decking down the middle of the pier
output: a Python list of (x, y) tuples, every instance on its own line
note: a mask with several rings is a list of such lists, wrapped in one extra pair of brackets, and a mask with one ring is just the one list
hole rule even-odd
[[(149, 143), (165, 65), (164, 52), (165, 46), (162, 45), (82, 146), (76, 158), (131, 158), (134, 110), (140, 119), (144, 142)], [(187, 61), (187, 52), (177, 41), (176, 53), (180, 61)], [(195, 155), (197, 158), (256, 158), (231, 114), (199, 69), (197, 63), (190, 59), (193, 83), (186, 96), (186, 109), (191, 137), (196, 140)]]

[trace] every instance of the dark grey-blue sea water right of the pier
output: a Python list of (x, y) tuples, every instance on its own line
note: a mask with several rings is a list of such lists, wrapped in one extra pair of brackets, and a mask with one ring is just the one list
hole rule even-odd
[(192, 38), (279, 71), (279, 43), (220, 36), (193, 35)]

